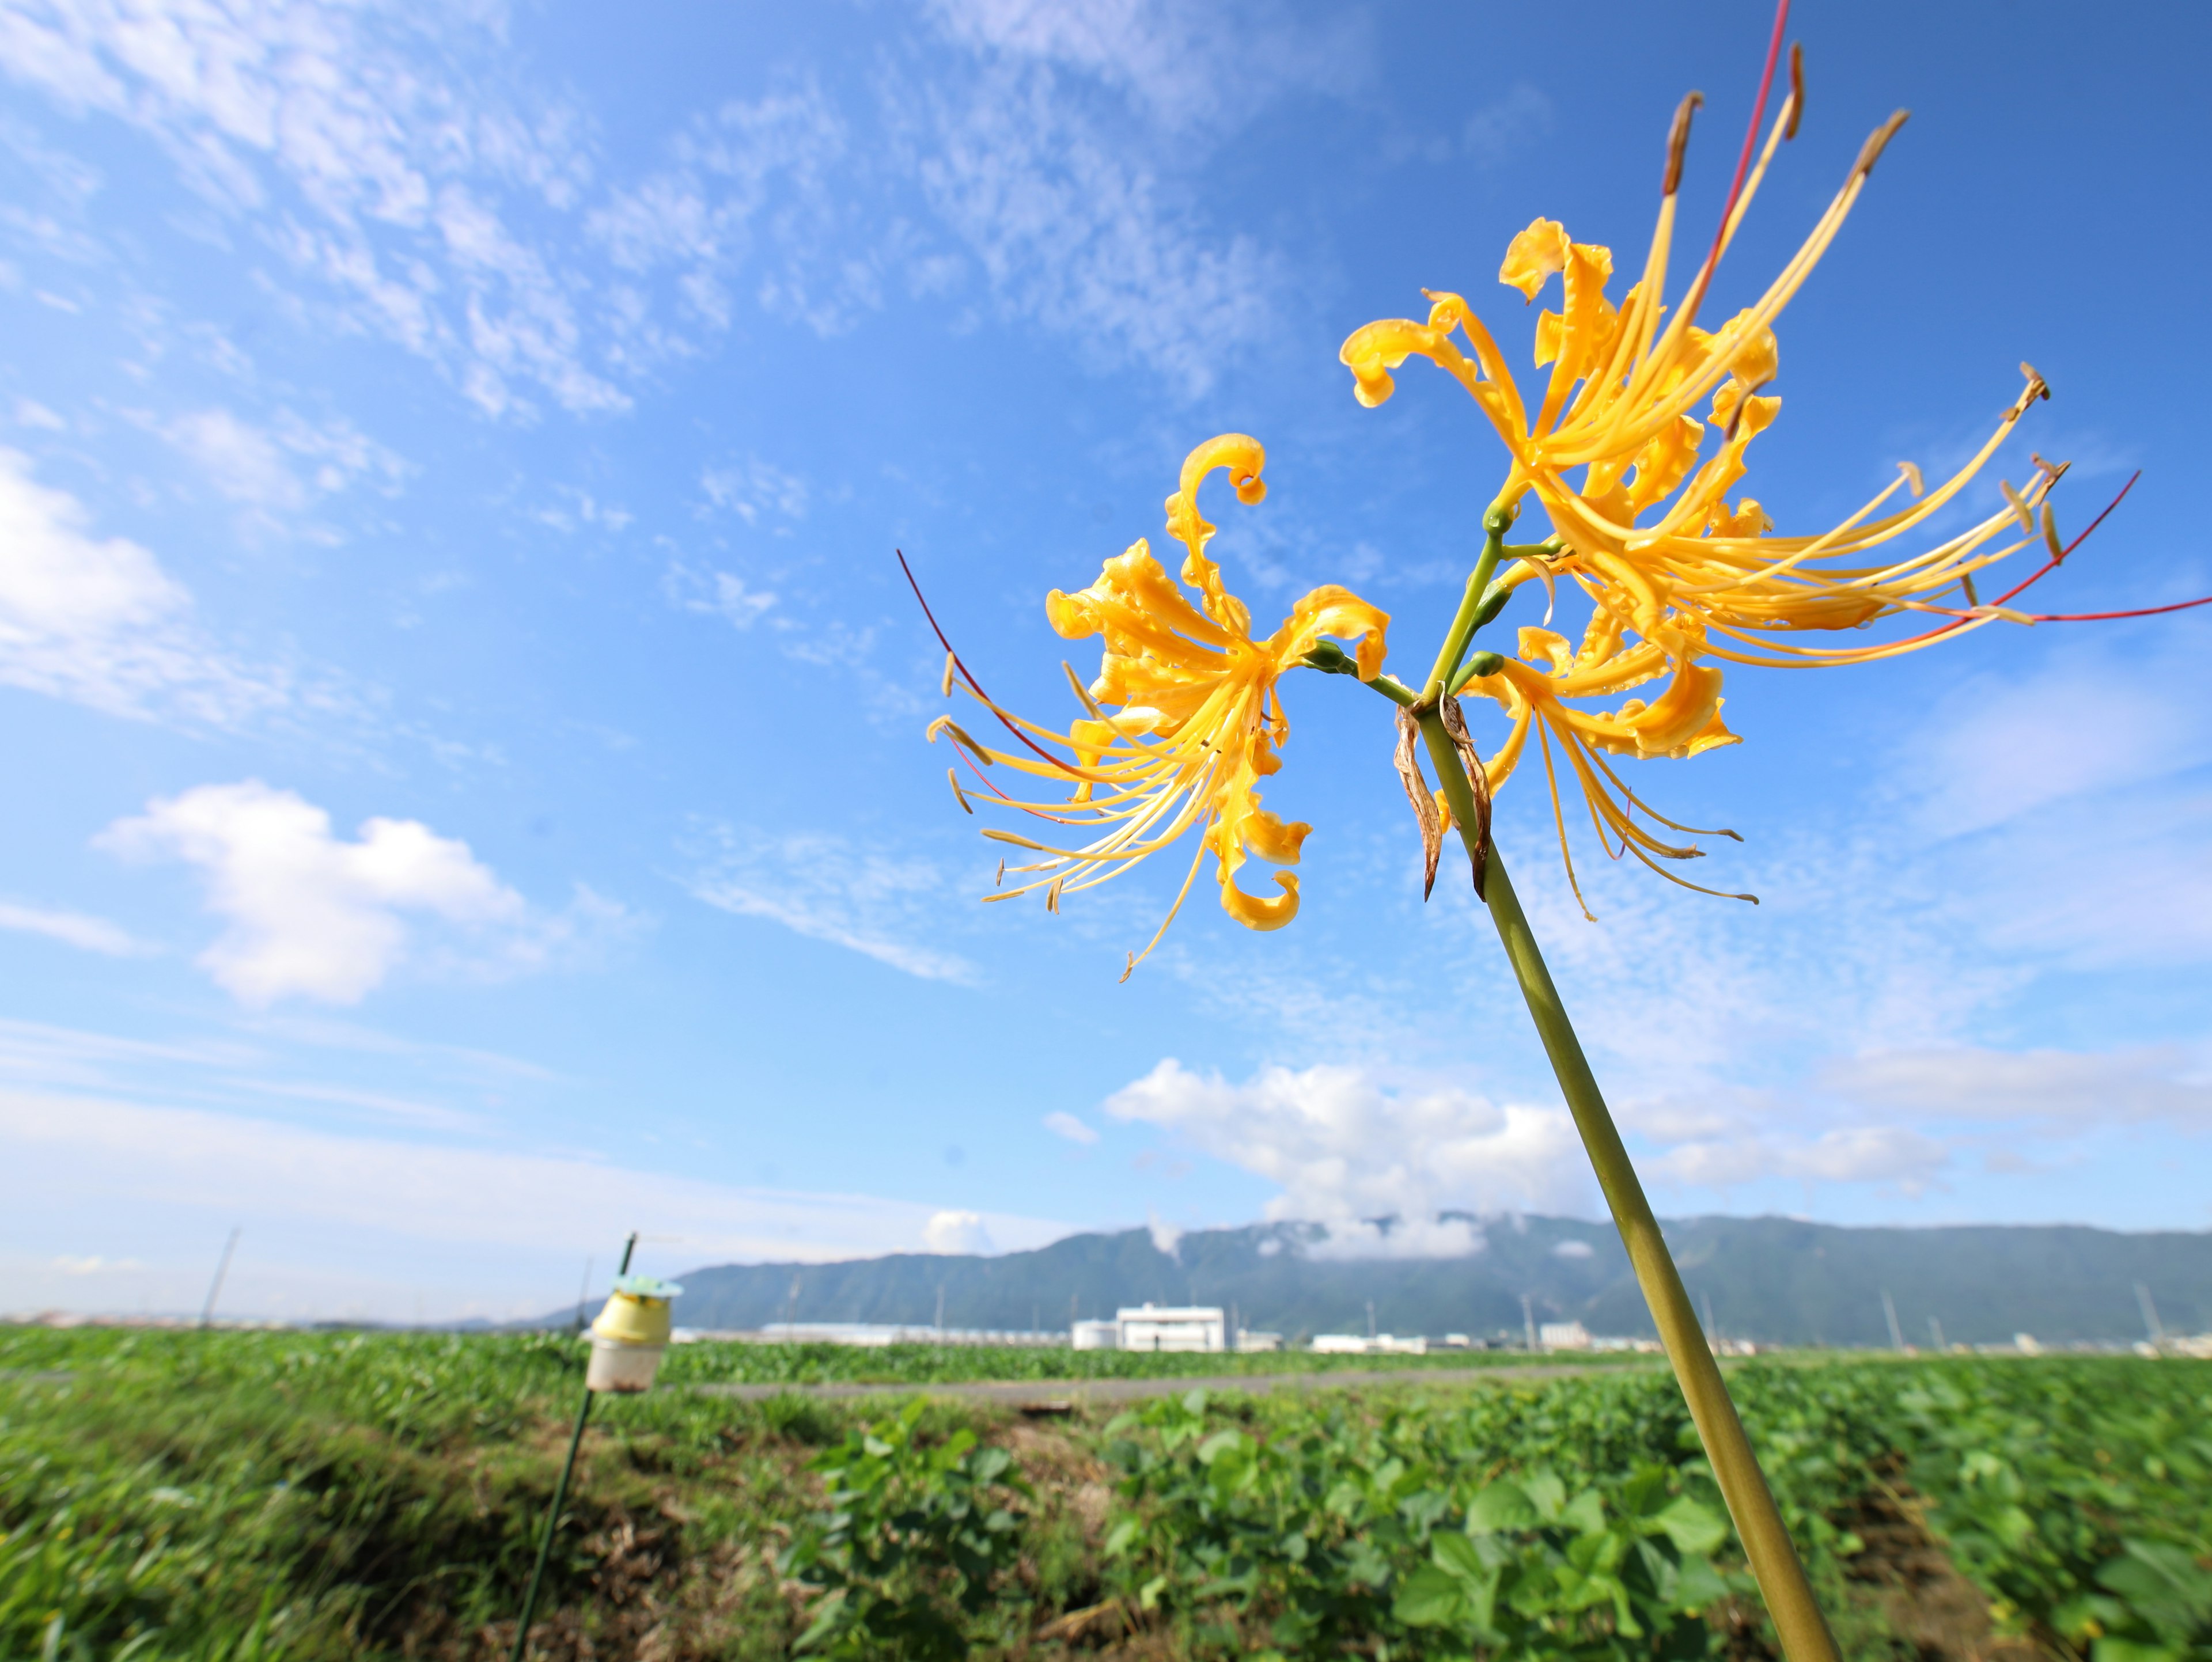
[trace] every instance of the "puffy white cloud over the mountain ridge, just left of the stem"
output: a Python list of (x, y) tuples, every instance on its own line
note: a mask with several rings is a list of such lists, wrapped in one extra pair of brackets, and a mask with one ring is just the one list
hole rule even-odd
[(1106, 1112), (1279, 1182), (1267, 1218), (1321, 1222), (1371, 1251), (1478, 1251), (1480, 1231), (1438, 1213), (1579, 1213), (1593, 1198), (1566, 1109), (1389, 1090), (1360, 1067), (1265, 1067), (1232, 1085), (1166, 1059)]

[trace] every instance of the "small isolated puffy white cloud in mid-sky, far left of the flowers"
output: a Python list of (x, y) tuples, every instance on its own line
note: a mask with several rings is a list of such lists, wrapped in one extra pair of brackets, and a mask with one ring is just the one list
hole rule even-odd
[(199, 966), (248, 1006), (358, 1003), (407, 955), (403, 913), (502, 930), (529, 922), (522, 897), (465, 842), (387, 818), (343, 842), (330, 813), (259, 780), (150, 802), (102, 831), (97, 846), (199, 871), (208, 911), (226, 922)]

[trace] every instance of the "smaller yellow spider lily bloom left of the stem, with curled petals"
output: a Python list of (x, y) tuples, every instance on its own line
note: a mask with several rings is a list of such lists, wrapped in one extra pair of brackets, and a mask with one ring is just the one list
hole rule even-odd
[[(1057, 911), (1066, 891), (1093, 888), (1192, 827), (1206, 827), (1175, 906), (1144, 953), (1130, 955), (1128, 970), (1137, 968), (1175, 922), (1208, 853), (1217, 862), (1221, 906), (1239, 924), (1267, 930), (1296, 917), (1296, 873), (1276, 871), (1274, 882), (1283, 893), (1272, 897), (1252, 895), (1237, 884), (1237, 871), (1248, 858), (1296, 864), (1298, 846), (1312, 831), (1303, 822), (1285, 824), (1261, 807), (1259, 780), (1283, 765), (1276, 751), (1290, 736), (1276, 681), (1323, 637), (1358, 641), (1363, 681), (1374, 681), (1383, 670), (1389, 617), (1334, 583), (1301, 599), (1274, 634), (1252, 639), (1250, 608), (1223, 588), (1221, 568), (1206, 557), (1214, 526), (1199, 515), (1199, 486), (1210, 473), (1225, 469), (1237, 499), (1254, 504), (1267, 495), (1259, 477), (1263, 466), (1265, 451), (1241, 433), (1212, 438), (1183, 462), (1181, 484), (1168, 497), (1168, 535), (1188, 550), (1181, 577), (1194, 603), (1177, 590), (1141, 539), (1108, 559), (1091, 588), (1075, 595), (1053, 590), (1046, 599), (1046, 617), (1064, 639), (1104, 639), (1106, 656), (1097, 681), (1088, 690), (1075, 685), (1088, 709), (1086, 720), (1071, 723), (1066, 732), (1040, 727), (1000, 709), (969, 681), (971, 696), (1022, 736), (1033, 754), (980, 745), (951, 718), (940, 718), (929, 729), (931, 738), (951, 734), (987, 767), (1073, 782), (1073, 791), (1053, 802), (980, 793), (971, 800), (995, 800), (1097, 833), (1079, 846), (1055, 846), (1013, 831), (984, 831), (987, 838), (1044, 855), (1013, 866), (1011, 875), (1024, 882), (1002, 886), (989, 900), (1042, 888), (1046, 904)], [(1106, 705), (1117, 709), (1108, 714)], [(1000, 880), (1006, 875), (1002, 869)]]

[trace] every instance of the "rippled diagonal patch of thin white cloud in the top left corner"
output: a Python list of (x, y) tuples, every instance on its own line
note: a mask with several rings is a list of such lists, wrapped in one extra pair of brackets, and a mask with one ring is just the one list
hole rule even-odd
[(513, 230), (575, 203), (582, 122), (507, 102), (502, 49), (495, 9), (33, 0), (0, 18), (18, 82), (144, 128), (354, 327), (436, 360), (482, 409), (522, 411), (526, 389), (622, 409), (588, 360), (582, 285)]

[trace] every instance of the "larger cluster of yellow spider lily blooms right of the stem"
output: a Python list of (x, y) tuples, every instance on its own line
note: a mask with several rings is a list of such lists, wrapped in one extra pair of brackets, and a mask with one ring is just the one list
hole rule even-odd
[[(1557, 312), (1537, 318), (1535, 362), (1548, 365), (1551, 376), (1533, 402), (1522, 393), (1489, 329), (1458, 294), (1429, 294), (1427, 323), (1369, 323), (1338, 354), (1367, 407), (1391, 396), (1389, 371), (1409, 356), (1429, 358), (1451, 374), (1511, 455), (1498, 502), (1517, 508), (1524, 497), (1535, 495), (1548, 513), (1559, 553), (1522, 559), (1502, 581), (1513, 588), (1542, 579), (1551, 590), (1557, 577), (1568, 577), (1590, 599), (1593, 617), (1573, 652), (1551, 630), (1522, 630), (1522, 663), (1509, 661), (1498, 674), (1471, 683), (1473, 692), (1495, 698), (1513, 720), (1506, 743), (1489, 762), (1491, 785), (1513, 771), (1535, 723), (1546, 769), (1551, 740), (1562, 743), (1599, 840), (1615, 855), (1619, 851), (1613, 844), (1619, 842), (1646, 864), (1650, 855), (1681, 860), (1697, 851), (1663, 844), (1630, 822), (1630, 809), (1644, 804), (1601, 754), (1694, 756), (1739, 743), (1721, 723), (1721, 670), (1701, 659), (1781, 667), (1865, 663), (1997, 619), (2024, 623), (2026, 617), (2002, 606), (1982, 606), (1973, 575), (2028, 544), (2051, 544), (2057, 550), (2044, 499), (2064, 469), (2037, 460), (2026, 491), (2004, 488), (2002, 511), (1909, 559), (1867, 559), (1869, 550), (1907, 535), (1953, 502), (2028, 404), (2048, 398), (2042, 378), (2026, 365), (2022, 369), (2028, 385), (1989, 442), (1933, 491), (1922, 486), (1918, 469), (1902, 464), (1889, 488), (1816, 537), (1772, 537), (1772, 522), (1756, 499), (1745, 495), (1728, 502), (1743, 480), (1750, 442), (1781, 411), (1781, 398), (1763, 391), (1781, 365), (1774, 320), (1827, 252), (1882, 146), (1905, 124), (1900, 111), (1867, 139), (1843, 190), (1767, 292), (1719, 329), (1705, 332), (1697, 327), (1699, 303), (1776, 146), (1794, 135), (1801, 104), (1803, 93), (1794, 86), (1756, 168), (1723, 214), (1712, 252), (1672, 316), (1663, 294), (1694, 95), (1674, 117), (1659, 223), (1641, 276), (1619, 307), (1606, 298), (1610, 250), (1568, 239), (1553, 219), (1537, 219), (1513, 239), (1498, 281), (1535, 301), (1559, 276), (1564, 296)], [(1699, 404), (1705, 404), (1703, 418), (1692, 413)], [(1577, 473), (1579, 477), (1571, 477)], [(1900, 488), (1911, 491), (1911, 502), (1889, 511)], [(1960, 601), (1944, 603), (1944, 590), (1960, 590)], [(1947, 621), (1907, 639), (1803, 643), (1807, 632), (1856, 630), (1900, 612), (1931, 612)], [(1610, 714), (1562, 703), (1610, 696), (1661, 676), (1670, 676), (1670, 683), (1657, 696), (1632, 698)], [(1566, 855), (1555, 778), (1553, 809)], [(1571, 855), (1568, 877), (1573, 880)]]

